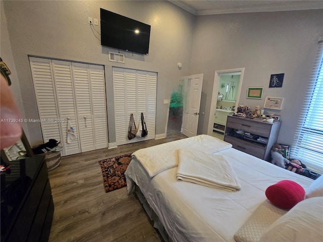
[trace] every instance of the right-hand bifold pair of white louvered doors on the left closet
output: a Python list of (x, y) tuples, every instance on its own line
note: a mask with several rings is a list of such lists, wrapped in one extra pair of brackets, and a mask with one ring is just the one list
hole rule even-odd
[(107, 147), (104, 69), (72, 63), (82, 152)]

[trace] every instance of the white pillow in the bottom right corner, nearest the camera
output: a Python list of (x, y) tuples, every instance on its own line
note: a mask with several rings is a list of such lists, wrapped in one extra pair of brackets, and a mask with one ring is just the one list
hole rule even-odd
[(323, 241), (323, 197), (305, 199), (277, 219), (259, 242)]

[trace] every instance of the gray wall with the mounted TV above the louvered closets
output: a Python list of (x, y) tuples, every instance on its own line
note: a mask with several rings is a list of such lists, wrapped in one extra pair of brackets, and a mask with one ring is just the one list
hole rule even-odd
[[(8, 36), (8, 41), (1, 42), (2, 50), (8, 48), (2, 58), (13, 60), (10, 68), (17, 73), (13, 82), (19, 83), (21, 91), (14, 92), (21, 96), (24, 117), (38, 118), (28, 62), (28, 55), (36, 55), (104, 65), (110, 143), (115, 142), (112, 67), (157, 72), (156, 134), (165, 133), (168, 104), (163, 101), (170, 99), (180, 77), (190, 74), (192, 14), (168, 1), (1, 1), (1, 8), (2, 26), (3, 19), (7, 22), (1, 35)], [(118, 50), (102, 47), (88, 24), (88, 17), (100, 19), (100, 8), (151, 25), (149, 55), (120, 51), (126, 63), (109, 62), (109, 50)], [(28, 123), (27, 127), (31, 145), (42, 143), (40, 125)]]

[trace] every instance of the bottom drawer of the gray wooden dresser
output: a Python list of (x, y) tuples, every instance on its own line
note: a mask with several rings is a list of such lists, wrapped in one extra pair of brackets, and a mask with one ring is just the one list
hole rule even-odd
[(266, 148), (264, 146), (250, 143), (248, 141), (244, 141), (230, 135), (226, 135), (224, 141), (232, 144), (232, 147), (237, 150), (253, 155), (260, 159), (264, 159), (264, 154), (266, 151)]

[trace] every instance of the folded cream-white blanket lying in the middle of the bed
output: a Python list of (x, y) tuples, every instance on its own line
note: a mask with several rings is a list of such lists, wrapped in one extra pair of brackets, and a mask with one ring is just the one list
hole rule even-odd
[(241, 189), (230, 163), (220, 154), (179, 149), (176, 178), (227, 191)]

